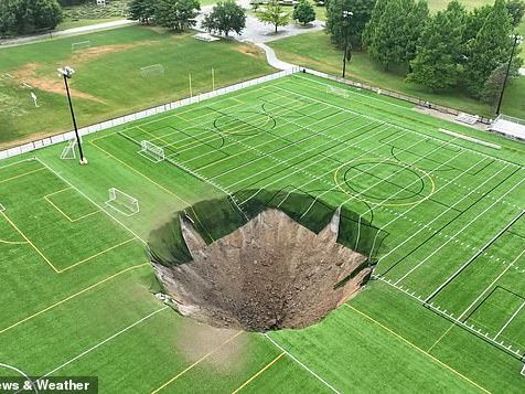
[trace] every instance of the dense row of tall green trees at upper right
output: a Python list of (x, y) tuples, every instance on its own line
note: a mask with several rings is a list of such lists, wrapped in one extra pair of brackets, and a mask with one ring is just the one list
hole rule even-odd
[[(463, 86), (473, 97), (493, 102), (525, 3), (495, 0), (468, 12), (453, 0), (430, 15), (422, 0), (329, 0), (326, 30), (339, 45), (345, 34), (343, 10), (353, 12), (347, 25), (352, 44), (366, 49), (386, 71), (405, 66), (408, 81), (429, 89)], [(514, 74), (521, 64), (516, 56)]]

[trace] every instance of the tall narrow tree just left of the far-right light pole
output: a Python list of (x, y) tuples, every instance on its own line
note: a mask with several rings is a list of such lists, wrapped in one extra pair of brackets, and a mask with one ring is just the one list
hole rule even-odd
[(485, 23), (469, 43), (469, 58), (464, 70), (467, 88), (480, 98), (491, 73), (508, 60), (512, 32), (511, 15), (504, 0), (496, 0)]

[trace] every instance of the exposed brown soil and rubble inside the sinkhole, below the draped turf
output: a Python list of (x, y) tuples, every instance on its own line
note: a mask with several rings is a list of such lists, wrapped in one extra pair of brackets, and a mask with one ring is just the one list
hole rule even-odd
[(181, 219), (193, 259), (152, 265), (183, 315), (249, 331), (303, 328), (346, 301), (372, 270), (360, 270), (366, 256), (336, 243), (339, 221), (336, 212), (315, 234), (269, 209), (207, 245)]

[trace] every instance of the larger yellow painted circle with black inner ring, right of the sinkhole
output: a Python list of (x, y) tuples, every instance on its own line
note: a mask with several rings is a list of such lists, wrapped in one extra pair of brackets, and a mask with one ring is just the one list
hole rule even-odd
[(347, 195), (383, 206), (414, 205), (436, 190), (426, 171), (392, 159), (349, 161), (335, 170), (334, 181)]

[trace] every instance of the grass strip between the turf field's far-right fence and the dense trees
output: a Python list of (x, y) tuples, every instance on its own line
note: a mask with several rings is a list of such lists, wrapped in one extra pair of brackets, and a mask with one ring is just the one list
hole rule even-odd
[[(330, 43), (330, 38), (324, 32), (308, 33), (274, 41), (269, 45), (276, 50), (277, 56), (286, 62), (304, 65), (333, 75), (341, 74), (341, 51)], [(489, 106), (468, 97), (459, 90), (442, 94), (430, 93), (416, 84), (406, 83), (403, 73), (385, 73), (383, 67), (372, 62), (368, 55), (363, 52), (353, 54), (346, 71), (347, 76), (355, 81), (420, 97), (469, 113), (488, 117), (493, 116), (493, 111)], [(507, 89), (503, 113), (525, 118), (523, 79), (523, 77), (519, 78), (518, 83), (514, 83)]]

